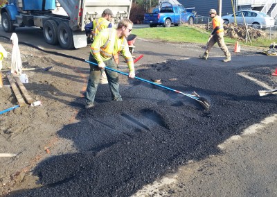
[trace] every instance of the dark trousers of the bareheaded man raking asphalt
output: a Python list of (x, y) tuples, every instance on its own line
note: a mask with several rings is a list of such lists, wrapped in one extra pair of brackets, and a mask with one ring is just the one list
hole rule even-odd
[[(94, 103), (97, 87), (100, 83), (100, 76), (104, 71), (107, 75), (107, 80), (109, 84), (109, 89), (111, 90), (112, 99), (114, 99), (115, 101), (122, 101), (122, 98), (119, 94), (118, 73), (107, 69), (100, 69), (100, 67), (98, 67), (96, 59), (93, 58), (93, 55), (91, 55), (91, 53), (89, 55), (89, 61), (96, 63), (96, 65), (89, 64), (91, 69), (89, 74), (89, 81), (87, 83), (86, 103)], [(116, 62), (114, 62), (112, 58), (104, 61), (104, 63), (106, 67), (110, 67), (111, 69), (117, 69)]]

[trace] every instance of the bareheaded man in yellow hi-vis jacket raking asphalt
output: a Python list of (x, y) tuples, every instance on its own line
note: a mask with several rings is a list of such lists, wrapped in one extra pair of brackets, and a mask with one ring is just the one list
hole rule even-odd
[(104, 71), (107, 74), (112, 99), (115, 101), (122, 101), (122, 97), (119, 94), (118, 73), (106, 70), (105, 67), (117, 69), (116, 62), (113, 60), (113, 55), (120, 52), (129, 67), (129, 78), (134, 78), (134, 61), (129, 52), (129, 46), (126, 40), (126, 37), (132, 31), (132, 27), (133, 23), (129, 19), (122, 19), (118, 23), (116, 29), (106, 28), (100, 31), (91, 44), (89, 61), (96, 63), (98, 66), (89, 64), (90, 74), (87, 83), (86, 109), (94, 106), (94, 99), (100, 82), (100, 76)]

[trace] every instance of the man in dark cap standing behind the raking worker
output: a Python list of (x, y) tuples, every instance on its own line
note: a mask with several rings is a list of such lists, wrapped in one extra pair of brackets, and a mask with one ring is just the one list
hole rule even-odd
[[(112, 16), (113, 16), (113, 13), (111, 12), (111, 10), (109, 8), (107, 8), (102, 12), (102, 17), (100, 17), (99, 19), (93, 20), (93, 29), (92, 29), (93, 40), (96, 39), (96, 36), (102, 29), (112, 27), (112, 25), (111, 25), (111, 17)], [(100, 78), (100, 83), (101, 84), (108, 83), (105, 72), (102, 72), (102, 75)]]

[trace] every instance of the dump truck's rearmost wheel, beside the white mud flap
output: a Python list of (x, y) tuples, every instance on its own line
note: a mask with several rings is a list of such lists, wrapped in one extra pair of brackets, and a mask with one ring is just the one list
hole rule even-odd
[(68, 23), (61, 22), (57, 27), (57, 40), (63, 49), (73, 49), (73, 35)]

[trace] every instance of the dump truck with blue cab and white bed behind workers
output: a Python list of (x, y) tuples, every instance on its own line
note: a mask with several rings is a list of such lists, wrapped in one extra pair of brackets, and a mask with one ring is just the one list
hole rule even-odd
[(84, 26), (100, 18), (109, 8), (112, 23), (129, 18), (132, 0), (9, 0), (1, 8), (1, 24), (6, 32), (16, 28), (36, 26), (43, 29), (48, 44), (60, 44), (63, 49), (87, 46)]

